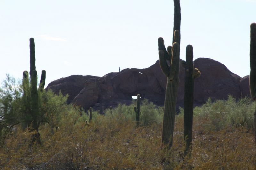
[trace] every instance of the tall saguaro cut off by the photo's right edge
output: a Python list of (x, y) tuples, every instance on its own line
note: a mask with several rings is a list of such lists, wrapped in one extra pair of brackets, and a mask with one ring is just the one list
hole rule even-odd
[[(250, 92), (253, 100), (256, 101), (256, 23), (251, 24), (250, 67)], [(254, 112), (254, 129), (256, 129), (256, 110)], [(254, 138), (256, 143), (256, 130)]]

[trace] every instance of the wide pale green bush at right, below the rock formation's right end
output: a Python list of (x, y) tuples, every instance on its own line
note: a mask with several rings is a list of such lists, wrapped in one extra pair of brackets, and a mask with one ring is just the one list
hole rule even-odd
[(238, 101), (231, 95), (227, 100), (216, 100), (209, 98), (201, 107), (194, 108), (194, 119), (204, 122), (207, 130), (221, 130), (225, 127), (245, 127), (247, 130), (253, 128), (253, 113), (255, 104), (249, 98)]

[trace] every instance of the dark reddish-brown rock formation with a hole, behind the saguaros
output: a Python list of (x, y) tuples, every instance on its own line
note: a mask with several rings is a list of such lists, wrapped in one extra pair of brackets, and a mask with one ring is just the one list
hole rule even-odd
[[(224, 64), (209, 58), (198, 58), (195, 68), (201, 76), (195, 80), (194, 105), (203, 104), (209, 97), (227, 99), (228, 94), (239, 98), (247, 95), (249, 82), (232, 73)], [(184, 105), (184, 75), (180, 65), (180, 85), (178, 89), (177, 107)], [(54, 92), (68, 94), (68, 103), (88, 109), (93, 107), (115, 107), (118, 103), (130, 104), (132, 96), (140, 94), (157, 105), (164, 105), (166, 77), (159, 61), (146, 69), (124, 69), (121, 72), (108, 73), (103, 77), (72, 75), (51, 82), (47, 88)]]

